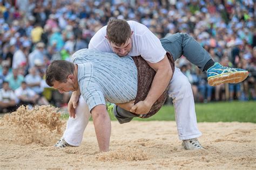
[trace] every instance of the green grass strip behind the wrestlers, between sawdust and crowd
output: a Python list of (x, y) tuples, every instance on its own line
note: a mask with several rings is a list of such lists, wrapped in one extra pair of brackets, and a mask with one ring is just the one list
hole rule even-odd
[[(198, 122), (252, 122), (256, 123), (256, 101), (233, 101), (196, 103)], [(146, 119), (134, 118), (136, 121), (175, 121), (173, 105), (164, 105), (159, 112)], [(65, 114), (63, 118), (68, 118)], [(112, 121), (116, 121), (110, 113)]]

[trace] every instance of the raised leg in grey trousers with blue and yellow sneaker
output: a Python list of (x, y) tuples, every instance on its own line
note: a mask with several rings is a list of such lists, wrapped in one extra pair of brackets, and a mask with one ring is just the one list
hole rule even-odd
[(176, 33), (160, 40), (164, 49), (177, 60), (184, 55), (188, 61), (207, 71), (207, 80), (210, 86), (224, 83), (239, 83), (248, 76), (248, 71), (240, 68), (221, 66), (211, 59), (210, 54), (191, 36), (186, 33)]

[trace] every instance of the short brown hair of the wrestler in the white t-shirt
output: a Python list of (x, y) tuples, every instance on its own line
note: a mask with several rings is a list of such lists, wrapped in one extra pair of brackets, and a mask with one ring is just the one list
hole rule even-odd
[(124, 19), (112, 19), (107, 23), (107, 39), (117, 46), (125, 44), (131, 33), (131, 27)]

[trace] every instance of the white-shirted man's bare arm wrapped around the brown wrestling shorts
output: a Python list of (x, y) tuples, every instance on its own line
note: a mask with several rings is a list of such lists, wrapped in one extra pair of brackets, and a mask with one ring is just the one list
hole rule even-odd
[(173, 74), (170, 62), (166, 55), (163, 60), (157, 63), (147, 63), (156, 71), (156, 75), (154, 76), (150, 91), (145, 100), (136, 103), (130, 110), (137, 114), (147, 114), (150, 111), (154, 102), (157, 101), (168, 86)]

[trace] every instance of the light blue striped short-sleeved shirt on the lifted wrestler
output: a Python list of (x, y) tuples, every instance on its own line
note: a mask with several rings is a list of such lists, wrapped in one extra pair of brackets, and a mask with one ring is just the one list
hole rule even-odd
[(130, 56), (80, 49), (72, 55), (78, 84), (91, 110), (96, 105), (126, 103), (137, 95), (137, 67)]

